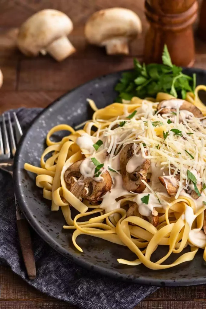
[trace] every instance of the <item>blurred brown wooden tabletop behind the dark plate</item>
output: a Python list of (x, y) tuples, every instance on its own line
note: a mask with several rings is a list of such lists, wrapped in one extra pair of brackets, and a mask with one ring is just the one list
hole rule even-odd
[[(17, 107), (45, 107), (66, 91), (97, 76), (128, 69), (133, 57), (143, 57), (148, 23), (144, 0), (0, 0), (0, 68), (4, 83), (0, 95), (0, 112)], [(198, 1), (199, 5), (202, 1)], [(104, 48), (88, 45), (84, 24), (95, 11), (125, 7), (136, 12), (142, 22), (142, 34), (130, 44), (128, 56), (108, 56)], [(200, 6), (199, 6), (200, 7)], [(66, 13), (74, 23), (69, 40), (77, 52), (62, 62), (49, 55), (24, 56), (16, 47), (20, 25), (35, 12), (45, 8)], [(197, 27), (198, 20), (194, 23)], [(195, 37), (196, 67), (206, 69), (206, 44)]]

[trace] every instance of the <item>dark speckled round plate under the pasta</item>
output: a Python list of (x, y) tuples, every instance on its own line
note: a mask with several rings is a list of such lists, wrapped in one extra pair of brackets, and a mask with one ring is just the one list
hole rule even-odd
[[(206, 71), (185, 70), (187, 74), (194, 72), (197, 73), (197, 83), (206, 84)], [(46, 134), (53, 126), (67, 123), (74, 127), (91, 118), (92, 111), (86, 98), (94, 99), (99, 108), (111, 104), (116, 98), (114, 86), (120, 75), (121, 72), (109, 74), (74, 89), (49, 105), (33, 121), (21, 139), (15, 156), (14, 182), (19, 204), (32, 227), (49, 245), (87, 269), (119, 279), (158, 286), (206, 283), (206, 265), (203, 250), (200, 249), (191, 262), (158, 271), (147, 269), (144, 265), (131, 267), (119, 264), (117, 258), (134, 260), (136, 256), (123, 246), (91, 236), (78, 237), (77, 242), (82, 247), (83, 253), (77, 251), (72, 244), (72, 232), (62, 229), (65, 220), (61, 210), (51, 211), (50, 201), (43, 198), (42, 189), (35, 185), (36, 175), (23, 169), (25, 162), (39, 166), (40, 156), (45, 148)], [(166, 248), (159, 247), (154, 259), (162, 257), (165, 250)]]

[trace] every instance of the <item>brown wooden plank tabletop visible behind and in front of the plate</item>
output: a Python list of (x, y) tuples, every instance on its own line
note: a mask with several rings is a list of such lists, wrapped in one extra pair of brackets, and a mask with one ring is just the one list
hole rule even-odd
[[(137, 12), (143, 24), (142, 36), (131, 44), (127, 57), (106, 56), (104, 49), (88, 46), (84, 40), (83, 29), (88, 16), (114, 6)], [(63, 11), (74, 22), (70, 40), (78, 51), (61, 63), (49, 56), (26, 58), (16, 49), (19, 25), (44, 8)], [(92, 78), (131, 68), (134, 56), (142, 59), (147, 27), (143, 0), (0, 0), (0, 68), (4, 75), (0, 113), (10, 108), (45, 107), (64, 92)], [(206, 44), (195, 40), (195, 66), (206, 69)], [(0, 308), (74, 308), (30, 287), (7, 266), (0, 267), (0, 287)], [(136, 308), (203, 309), (206, 308), (206, 287), (161, 288)]]

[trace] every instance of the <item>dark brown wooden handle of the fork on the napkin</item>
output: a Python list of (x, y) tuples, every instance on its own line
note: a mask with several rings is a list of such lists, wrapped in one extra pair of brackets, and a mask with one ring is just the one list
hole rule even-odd
[(18, 201), (15, 197), (16, 204), (16, 218), (17, 228), (19, 233), (19, 243), (24, 260), (24, 264), (27, 270), (29, 279), (36, 278), (36, 265), (34, 260), (34, 253), (32, 250), (32, 239), (29, 231), (29, 226), (26, 218), (24, 217), (21, 209), (19, 208)]

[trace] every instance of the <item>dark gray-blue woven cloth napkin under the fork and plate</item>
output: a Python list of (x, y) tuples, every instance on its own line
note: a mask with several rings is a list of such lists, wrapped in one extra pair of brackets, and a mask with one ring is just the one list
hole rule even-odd
[[(16, 111), (23, 130), (40, 111), (40, 108)], [(19, 246), (12, 180), (4, 171), (0, 171), (0, 222), (0, 264), (6, 263), (27, 283), (49, 296), (81, 309), (133, 309), (158, 289), (83, 269), (49, 247), (32, 228), (37, 276), (35, 280), (28, 280)]]

